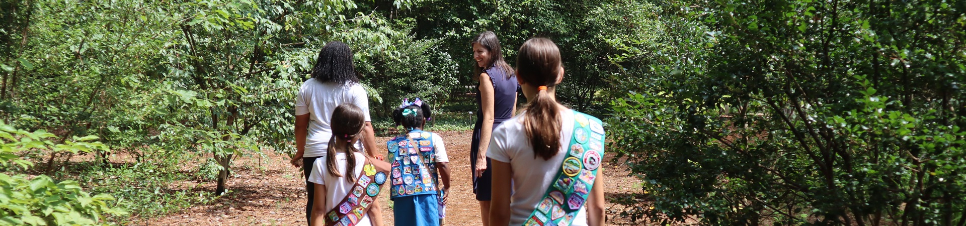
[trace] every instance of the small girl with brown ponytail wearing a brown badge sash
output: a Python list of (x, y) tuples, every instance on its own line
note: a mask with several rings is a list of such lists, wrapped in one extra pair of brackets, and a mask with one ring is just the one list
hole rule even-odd
[(316, 159), (308, 181), (315, 185), (315, 205), (309, 223), (314, 226), (383, 225), (382, 212), (373, 210), (388, 178), (389, 163), (359, 151), (353, 143), (362, 137), (364, 112), (344, 103), (332, 112), (332, 135), (327, 155)]

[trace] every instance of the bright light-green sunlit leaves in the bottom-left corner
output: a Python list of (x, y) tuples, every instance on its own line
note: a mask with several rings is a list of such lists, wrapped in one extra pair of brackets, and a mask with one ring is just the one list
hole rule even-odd
[[(0, 124), (0, 162), (10, 169), (28, 169), (33, 163), (18, 153), (43, 150), (49, 152), (91, 152), (104, 145), (86, 141), (96, 137), (74, 137), (66, 144), (54, 145), (57, 137), (44, 130), (28, 132)], [(56, 182), (50, 177), (0, 173), (0, 224), (2, 225), (108, 225), (103, 216), (122, 216), (128, 212), (109, 194), (91, 195), (74, 181)]]

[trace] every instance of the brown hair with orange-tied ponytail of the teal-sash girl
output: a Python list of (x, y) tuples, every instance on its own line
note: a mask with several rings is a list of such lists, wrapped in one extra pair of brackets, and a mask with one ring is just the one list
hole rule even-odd
[(560, 74), (560, 50), (553, 41), (533, 38), (520, 46), (517, 76), (526, 84), (538, 86), (537, 95), (526, 105), (524, 130), (533, 146), (534, 156), (550, 159), (560, 150), (562, 119), (556, 100), (548, 87), (556, 85)]

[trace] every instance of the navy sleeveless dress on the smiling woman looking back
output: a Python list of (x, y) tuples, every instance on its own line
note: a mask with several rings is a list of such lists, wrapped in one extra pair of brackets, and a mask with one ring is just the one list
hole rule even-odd
[[(510, 70), (510, 69), (507, 69)], [(502, 71), (497, 67), (490, 67), (490, 69), (485, 70), (490, 75), (490, 80), (493, 81), (493, 91), (494, 91), (494, 122), (493, 128), (496, 129), (500, 123), (509, 120), (513, 116), (513, 104), (517, 101), (517, 89), (519, 89), (519, 84), (517, 84), (517, 77), (511, 75), (507, 77), (507, 72), (512, 71)], [(479, 85), (476, 86), (479, 90)], [(480, 133), (483, 128), (483, 99), (480, 98), (480, 93), (476, 92), (476, 124), (473, 125), (473, 138), (470, 142), (469, 148), (469, 170), (474, 171), (474, 165), (476, 165), (476, 155), (479, 154), (478, 150), (480, 147)], [(489, 140), (483, 142), (490, 142)], [(493, 165), (490, 162), (490, 157), (486, 158), (486, 171), (483, 172), (482, 177), (473, 178), (473, 193), (476, 194), (476, 200), (479, 201), (490, 201), (491, 199), (491, 184), (493, 182)], [(469, 175), (473, 175), (470, 172)]]

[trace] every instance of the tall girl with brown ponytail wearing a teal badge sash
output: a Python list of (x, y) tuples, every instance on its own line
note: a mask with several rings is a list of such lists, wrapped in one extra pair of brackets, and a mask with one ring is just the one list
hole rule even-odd
[(603, 225), (601, 121), (556, 101), (564, 72), (553, 41), (524, 42), (516, 74), (528, 102), (493, 131), (490, 225)]

